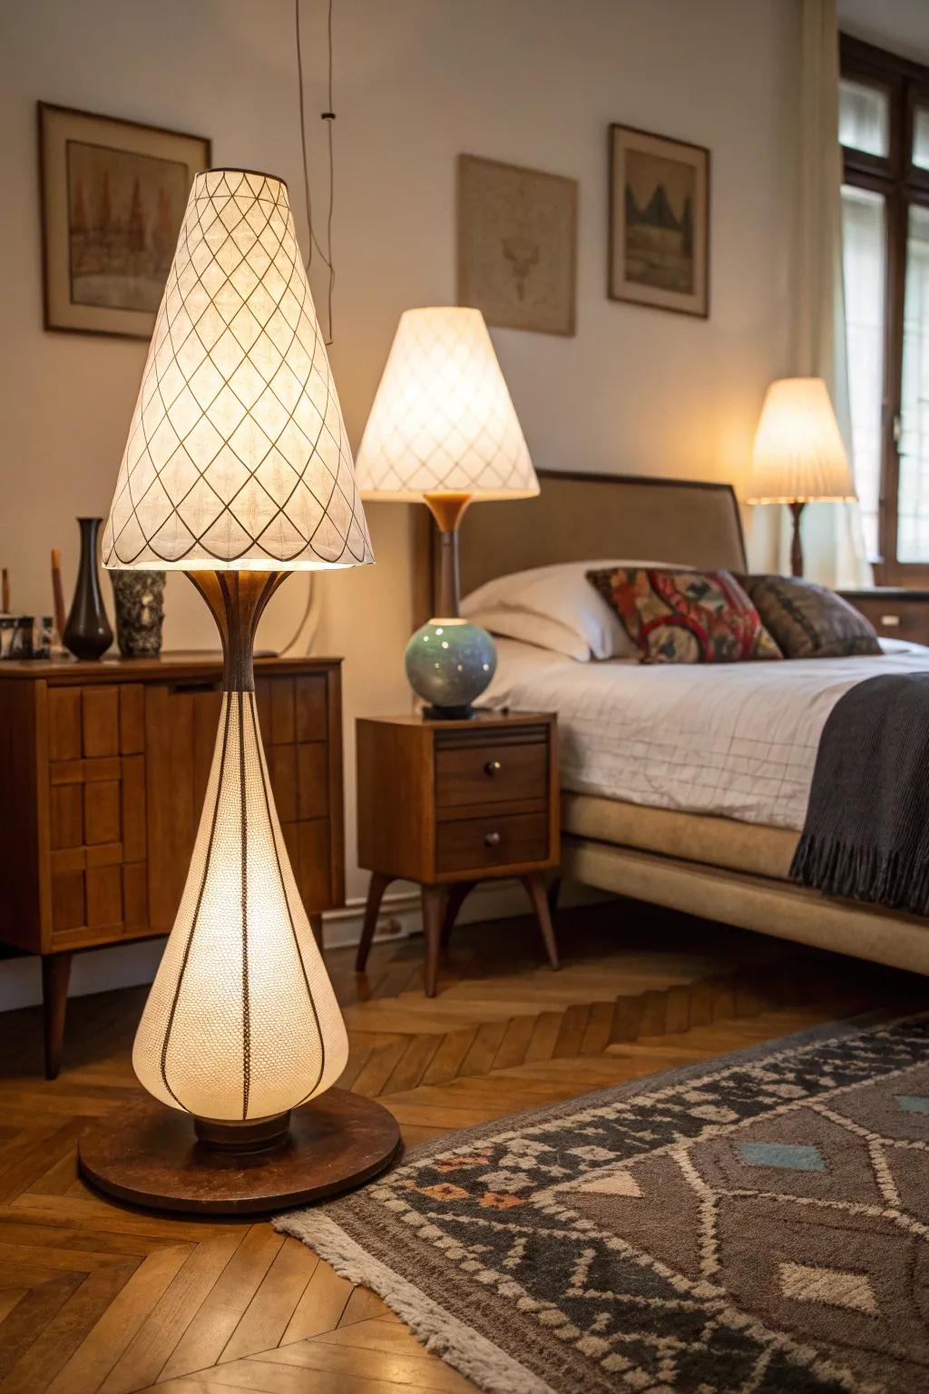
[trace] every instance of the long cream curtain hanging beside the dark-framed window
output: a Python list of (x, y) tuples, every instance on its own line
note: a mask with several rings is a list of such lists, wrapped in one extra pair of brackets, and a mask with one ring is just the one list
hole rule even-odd
[[(838, 145), (838, 20), (836, 0), (802, 0), (797, 343), (794, 371), (823, 378), (851, 460), (841, 256), (841, 146)], [(808, 503), (804, 572), (833, 587), (871, 585), (857, 503)], [(787, 572), (790, 528), (781, 520), (780, 562)]]

